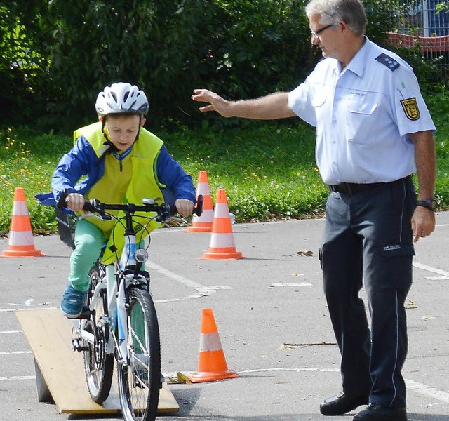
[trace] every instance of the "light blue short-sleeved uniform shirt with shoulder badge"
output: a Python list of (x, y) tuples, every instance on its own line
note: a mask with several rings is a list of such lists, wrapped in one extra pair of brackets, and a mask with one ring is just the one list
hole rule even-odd
[(415, 173), (408, 133), (435, 131), (411, 67), (368, 38), (343, 70), (334, 58), (321, 60), (288, 103), (316, 127), (316, 163), (326, 184)]

